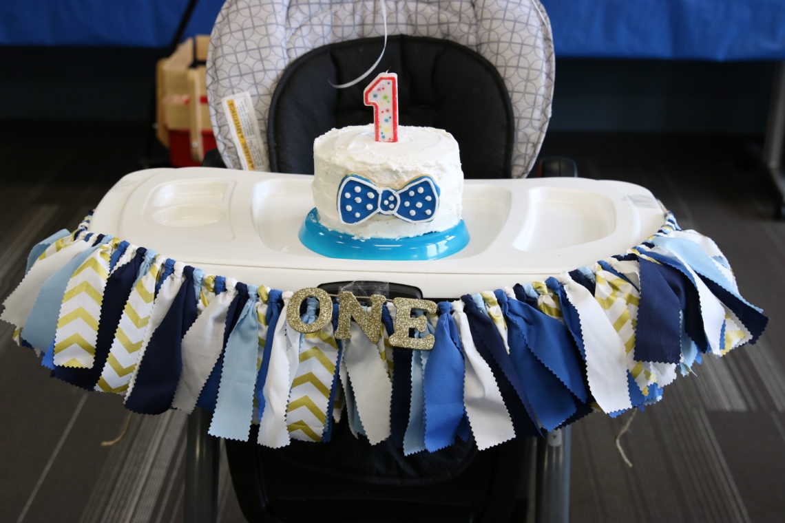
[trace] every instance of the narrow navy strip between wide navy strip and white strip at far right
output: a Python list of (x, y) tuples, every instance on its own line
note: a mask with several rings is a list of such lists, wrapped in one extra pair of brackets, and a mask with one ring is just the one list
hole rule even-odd
[(700, 311), (700, 298), (692, 274), (678, 260), (663, 256), (657, 252), (646, 252), (646, 256), (660, 264), (653, 264), (665, 281), (670, 285), (670, 289), (678, 297), (681, 311), (684, 312), (684, 327), (687, 335), (696, 343), (698, 350), (707, 352), (709, 341), (706, 332), (703, 330), (703, 314)]

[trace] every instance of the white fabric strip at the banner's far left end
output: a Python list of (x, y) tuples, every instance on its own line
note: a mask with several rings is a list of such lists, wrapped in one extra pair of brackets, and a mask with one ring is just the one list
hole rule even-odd
[(33, 310), (38, 291), (41, 290), (44, 281), (80, 252), (89, 249), (92, 244), (93, 242), (77, 240), (46, 256), (46, 258), (36, 261), (30, 271), (22, 278), (20, 284), (16, 286), (16, 289), (5, 299), (3, 303), (5, 311), (0, 315), (0, 320), (7, 321), (17, 327), (23, 326)]

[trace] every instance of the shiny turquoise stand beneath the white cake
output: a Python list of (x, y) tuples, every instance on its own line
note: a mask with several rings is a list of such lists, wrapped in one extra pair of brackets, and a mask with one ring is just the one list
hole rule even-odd
[(316, 208), (305, 216), (298, 236), (302, 245), (313, 252), (346, 260), (439, 260), (469, 243), (469, 230), (463, 220), (447, 231), (412, 238), (355, 238), (324, 227)]

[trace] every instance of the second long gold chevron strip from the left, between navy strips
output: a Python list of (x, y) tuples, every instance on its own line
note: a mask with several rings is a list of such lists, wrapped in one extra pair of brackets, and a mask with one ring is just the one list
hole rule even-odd
[(144, 343), (150, 323), (155, 282), (164, 262), (163, 256), (155, 256), (148, 271), (133, 285), (120, 321), (115, 330), (109, 355), (96, 384), (96, 390), (124, 393), (128, 389), (132, 373), (137, 367), (139, 350)]

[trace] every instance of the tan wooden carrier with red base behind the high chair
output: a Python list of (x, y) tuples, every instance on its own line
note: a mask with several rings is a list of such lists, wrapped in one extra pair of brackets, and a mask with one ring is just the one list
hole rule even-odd
[(199, 165), (204, 151), (215, 147), (203, 65), (209, 42), (204, 35), (188, 38), (157, 65), (156, 134), (177, 167)]

